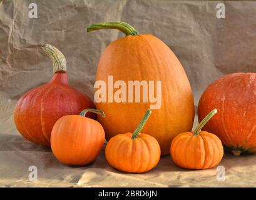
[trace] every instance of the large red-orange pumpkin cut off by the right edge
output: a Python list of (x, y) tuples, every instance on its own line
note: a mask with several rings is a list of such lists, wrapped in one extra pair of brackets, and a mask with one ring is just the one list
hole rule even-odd
[(218, 114), (203, 128), (215, 133), (225, 146), (256, 147), (256, 73), (233, 73), (214, 81), (202, 94), (198, 119), (211, 109)]

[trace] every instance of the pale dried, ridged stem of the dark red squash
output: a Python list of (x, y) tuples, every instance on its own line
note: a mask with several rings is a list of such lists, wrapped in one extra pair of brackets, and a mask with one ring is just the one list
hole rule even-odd
[(53, 73), (66, 72), (66, 58), (63, 53), (50, 44), (42, 43), (41, 47), (53, 61)]

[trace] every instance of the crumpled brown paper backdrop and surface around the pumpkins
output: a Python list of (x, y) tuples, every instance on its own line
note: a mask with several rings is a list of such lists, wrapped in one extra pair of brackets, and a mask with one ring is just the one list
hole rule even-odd
[[(38, 18), (28, 17), (36, 2)], [(22, 138), (13, 109), (23, 93), (51, 79), (52, 64), (39, 44), (46, 42), (66, 56), (69, 83), (93, 97), (96, 66), (105, 47), (123, 34), (116, 30), (87, 34), (93, 22), (126, 21), (141, 33), (165, 42), (180, 59), (192, 85), (195, 106), (203, 90), (223, 74), (255, 72), (256, 2), (225, 1), (225, 19), (217, 19), (221, 1), (0, 1), (0, 186), (48, 187), (255, 187), (256, 157), (225, 154), (225, 181), (217, 169), (189, 171), (161, 158), (152, 171), (126, 174), (108, 166), (104, 151), (95, 163), (64, 166), (49, 148)], [(197, 118), (195, 119), (197, 123)], [(29, 166), (38, 181), (29, 181)]]

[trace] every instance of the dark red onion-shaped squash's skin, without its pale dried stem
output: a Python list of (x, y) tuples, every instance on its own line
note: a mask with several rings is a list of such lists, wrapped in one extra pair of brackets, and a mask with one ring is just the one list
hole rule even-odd
[[(23, 94), (14, 109), (14, 122), (21, 135), (36, 144), (50, 146), (51, 130), (62, 116), (95, 108), (93, 101), (68, 84), (66, 73), (55, 73), (49, 83)], [(96, 118), (89, 113), (90, 118)]]

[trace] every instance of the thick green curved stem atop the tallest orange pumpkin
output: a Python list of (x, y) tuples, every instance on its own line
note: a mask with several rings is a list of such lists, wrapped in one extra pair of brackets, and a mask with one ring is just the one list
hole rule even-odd
[(87, 32), (100, 29), (118, 29), (119, 31), (123, 32), (126, 36), (136, 36), (139, 34), (134, 27), (123, 21), (111, 21), (105, 23), (90, 24), (90, 26), (87, 27)]

